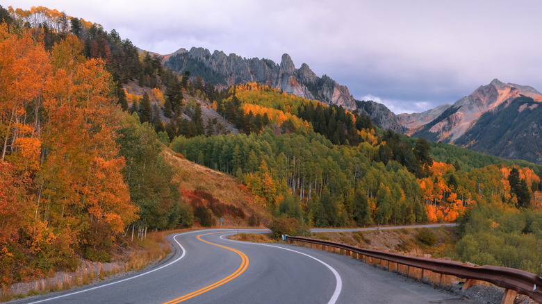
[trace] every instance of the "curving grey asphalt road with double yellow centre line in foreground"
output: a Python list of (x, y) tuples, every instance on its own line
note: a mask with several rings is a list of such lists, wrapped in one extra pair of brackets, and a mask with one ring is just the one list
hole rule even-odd
[(235, 233), (170, 235), (173, 252), (154, 268), (13, 303), (468, 303), (351, 257), (227, 239)]

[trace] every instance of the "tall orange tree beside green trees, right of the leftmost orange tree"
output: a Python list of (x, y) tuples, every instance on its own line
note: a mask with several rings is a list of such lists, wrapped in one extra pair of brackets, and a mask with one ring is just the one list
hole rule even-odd
[[(49, 121), (41, 210), (59, 230), (68, 227), (63, 234), (71, 233), (74, 242), (81, 235), (81, 246), (88, 246), (94, 237), (106, 241), (120, 233), (137, 210), (120, 174), (124, 158), (115, 144), (120, 113), (108, 97), (110, 76), (100, 60), (81, 62), (79, 47), (68, 39), (52, 55), (56, 69), (44, 93)], [(90, 228), (103, 235), (91, 236)]]

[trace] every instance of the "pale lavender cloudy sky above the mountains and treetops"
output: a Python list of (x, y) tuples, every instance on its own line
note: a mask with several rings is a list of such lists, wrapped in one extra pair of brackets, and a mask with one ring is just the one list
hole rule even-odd
[(290, 54), (395, 113), (454, 103), (493, 78), (542, 90), (542, 1), (0, 0), (113, 28), (161, 54), (204, 47), (280, 63)]

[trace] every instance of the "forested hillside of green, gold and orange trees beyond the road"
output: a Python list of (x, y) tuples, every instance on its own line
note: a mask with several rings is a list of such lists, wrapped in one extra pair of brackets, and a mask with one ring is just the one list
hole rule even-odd
[[(510, 196), (507, 181), (516, 168), (536, 192), (540, 167), (534, 164), (448, 149), (445, 144), (435, 149), (437, 162), (425, 140), (400, 137), (390, 130), (377, 135), (363, 117), (338, 112), (340, 108), (258, 83), (238, 85), (229, 92), (232, 95), (222, 107), (231, 109), (226, 117), (243, 133), (177, 137), (172, 149), (240, 178), (275, 215), (315, 226), (364, 226), (454, 221), (473, 205), (488, 202), (540, 203), (537, 196), (523, 201)], [(236, 116), (240, 112), (242, 119)], [(255, 129), (254, 123), (247, 123), (254, 115), (267, 117), (255, 119), (261, 121)]]

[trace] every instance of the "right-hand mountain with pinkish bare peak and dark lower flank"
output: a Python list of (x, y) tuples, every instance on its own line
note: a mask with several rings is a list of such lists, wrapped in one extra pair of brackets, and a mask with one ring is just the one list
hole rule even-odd
[(407, 135), (542, 164), (542, 94), (493, 79), (453, 105), (401, 114)]

